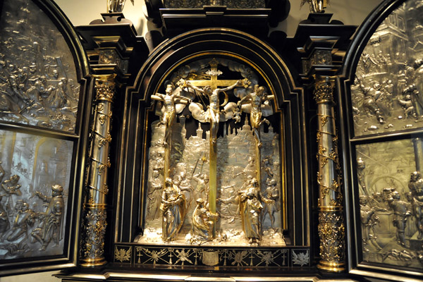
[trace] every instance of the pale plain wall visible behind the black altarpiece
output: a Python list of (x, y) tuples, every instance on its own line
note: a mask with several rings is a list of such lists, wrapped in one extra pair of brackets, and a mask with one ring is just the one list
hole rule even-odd
[[(131, 20), (138, 35), (145, 35), (151, 23), (145, 19), (145, 2), (134, 0), (133, 6), (130, 1), (123, 8), (125, 18)], [(381, 3), (382, 0), (331, 0), (331, 5), (326, 13), (333, 13), (332, 19), (341, 20), (345, 25), (360, 25), (367, 15)], [(62, 11), (68, 16), (71, 23), (88, 25), (92, 20), (102, 18), (100, 13), (106, 13), (106, 0), (56, 0)], [(290, 0), (291, 8), (288, 18), (278, 25), (278, 29), (287, 33), (288, 37), (295, 35), (298, 23), (307, 19), (309, 7), (307, 4), (300, 9), (301, 0)], [(58, 282), (59, 279), (51, 275), (57, 271), (43, 272), (39, 274), (26, 274), (19, 276), (1, 277), (0, 282), (27, 282), (43, 281)]]

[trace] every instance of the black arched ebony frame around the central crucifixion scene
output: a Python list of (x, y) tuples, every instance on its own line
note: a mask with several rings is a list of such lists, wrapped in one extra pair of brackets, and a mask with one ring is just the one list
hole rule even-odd
[[(235, 53), (236, 50), (236, 53)], [(286, 163), (286, 201), (288, 233), (285, 235), (292, 240), (286, 247), (298, 250), (298, 247), (309, 250), (311, 231), (311, 202), (307, 185), (307, 156), (305, 116), (302, 110), (302, 89), (295, 85), (293, 68), (286, 65), (286, 60), (280, 57), (269, 45), (247, 35), (245, 32), (226, 28), (208, 28), (192, 30), (182, 35), (162, 42), (142, 66), (135, 79), (135, 84), (128, 87), (125, 93), (123, 112), (121, 152), (118, 157), (121, 168), (118, 181), (118, 195), (116, 195), (116, 218), (114, 225), (114, 248), (129, 250), (132, 247), (132, 258), (128, 266), (135, 266), (135, 247), (132, 243), (136, 235), (142, 233), (143, 214), (145, 204), (145, 187), (147, 186), (147, 146), (149, 140), (149, 119), (152, 115), (152, 101), (149, 96), (157, 92), (171, 69), (184, 62), (191, 56), (202, 59), (214, 54), (231, 58), (239, 56), (257, 66), (271, 88), (275, 90), (276, 107), (282, 110), (283, 138), (286, 149), (281, 161)], [(219, 56), (219, 55), (216, 55)], [(183, 66), (185, 63), (182, 63)], [(247, 65), (249, 63), (246, 63)], [(300, 156), (300, 157), (296, 157)], [(283, 158), (283, 159), (282, 159)], [(282, 178), (283, 176), (281, 176)], [(153, 247), (167, 248), (166, 245)], [(182, 246), (180, 248), (195, 248), (198, 246)], [(172, 246), (179, 248), (179, 246)], [(258, 248), (259, 249), (259, 248)], [(289, 252), (290, 253), (290, 252)], [(310, 262), (312, 253), (309, 252)], [(114, 262), (116, 262), (114, 260)], [(311, 263), (309, 264), (309, 266)], [(286, 266), (292, 266), (288, 262)], [(176, 267), (176, 266), (172, 266)]]

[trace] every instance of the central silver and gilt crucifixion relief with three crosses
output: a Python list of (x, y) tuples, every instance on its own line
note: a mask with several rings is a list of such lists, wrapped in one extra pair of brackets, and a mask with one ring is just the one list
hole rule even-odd
[(285, 244), (280, 129), (269, 121), (274, 96), (258, 81), (243, 64), (205, 59), (180, 68), (165, 94), (152, 95), (160, 118), (152, 123), (137, 242)]

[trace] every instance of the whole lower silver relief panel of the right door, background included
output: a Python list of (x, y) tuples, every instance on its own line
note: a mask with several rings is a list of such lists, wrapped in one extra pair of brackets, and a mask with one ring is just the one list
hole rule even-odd
[(423, 178), (415, 147), (398, 140), (357, 147), (363, 259), (393, 265), (423, 265)]

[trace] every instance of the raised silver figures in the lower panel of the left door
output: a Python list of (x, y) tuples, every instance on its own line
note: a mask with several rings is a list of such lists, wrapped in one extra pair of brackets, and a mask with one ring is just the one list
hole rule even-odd
[(33, 196), (46, 206), (44, 212), (35, 212), (23, 200), (20, 176), (7, 176), (10, 173), (0, 164), (0, 248), (7, 251), (4, 256), (21, 257), (32, 251), (30, 245), (34, 243), (39, 243), (39, 251), (46, 250), (50, 243), (59, 245), (63, 239), (63, 187), (52, 185), (51, 195), (35, 191)]

